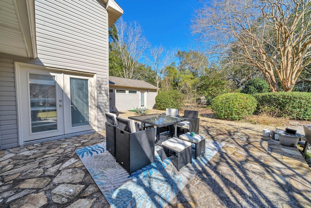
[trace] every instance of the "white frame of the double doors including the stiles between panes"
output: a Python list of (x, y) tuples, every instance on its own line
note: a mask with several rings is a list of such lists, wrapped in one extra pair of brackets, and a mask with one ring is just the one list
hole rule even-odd
[[(67, 78), (69, 80), (70, 77), (79, 77), (79, 78), (83, 78), (83, 79), (88, 79), (88, 89), (89, 89), (89, 124), (90, 127), (94, 130), (97, 130), (97, 111), (96, 111), (96, 106), (97, 106), (97, 93), (96, 93), (96, 75), (94, 74), (90, 74), (90, 73), (79, 73), (79, 72), (75, 72), (75, 71), (70, 71), (70, 70), (60, 70), (60, 69), (55, 69), (55, 68), (50, 68), (50, 67), (45, 67), (45, 66), (40, 66), (40, 65), (35, 65), (35, 64), (28, 64), (28, 63), (21, 63), (21, 62), (15, 62), (15, 83), (16, 83), (16, 97), (17, 97), (17, 123), (18, 123), (18, 143), (19, 146), (23, 145), (25, 141), (25, 133), (23, 132), (23, 125), (29, 125), (29, 124), (25, 124), (25, 119), (30, 119), (30, 118), (23, 118), (23, 111), (25, 111), (24, 102), (25, 102), (25, 96), (22, 95), (23, 90), (22, 90), (22, 86), (21, 86), (21, 80), (25, 79), (25, 77), (23, 77), (21, 74), (25, 74), (25, 73), (21, 73), (21, 70), (23, 70), (24, 68), (27, 69), (27, 71), (40, 71), (42, 72), (42, 70), (44, 70), (47, 74), (51, 73), (52, 75), (54, 74), (61, 74), (62, 76), (58, 76), (58, 78), (60, 80), (57, 80), (60, 82), (59, 87), (61, 87), (63, 95), (62, 95), (62, 99), (63, 99), (63, 105), (68, 106), (69, 103), (69, 107), (70, 107), (70, 87), (69, 87), (69, 91), (68, 91), (68, 84), (66, 83), (65, 86), (62, 83), (65, 83), (67, 80), (64, 80), (64, 77)], [(29, 74), (29, 73), (28, 73)], [(60, 78), (62, 77), (62, 78)], [(62, 80), (61, 80), (62, 79)], [(27, 79), (28, 80), (28, 79)], [(69, 95), (69, 96), (68, 96)], [(29, 92), (27, 97), (29, 96)], [(28, 98), (27, 98), (28, 99)], [(58, 98), (59, 99), (59, 98)], [(59, 100), (57, 100), (59, 102)], [(65, 102), (67, 102), (65, 104)], [(73, 133), (73, 132), (82, 132), (82, 131), (87, 131), (90, 130), (90, 127), (87, 128), (85, 126), (81, 126), (79, 128), (71, 128), (71, 119), (70, 119), (70, 108), (65, 110), (64, 107), (60, 107), (59, 104), (61, 103), (57, 103), (57, 109), (58, 112), (57, 114), (61, 113), (61, 116), (57, 116), (57, 119), (63, 119), (62, 121), (57, 120), (57, 125), (63, 125), (63, 127), (59, 127), (60, 129), (64, 128), (63, 130), (63, 134), (68, 134), (68, 133)], [(27, 104), (27, 108), (29, 107), (29, 105)], [(27, 109), (28, 111), (28, 109)], [(69, 116), (68, 116), (69, 113)], [(25, 116), (25, 115), (24, 115)], [(28, 116), (29, 117), (29, 116)], [(67, 123), (64, 123), (67, 122)], [(69, 128), (70, 127), (70, 128)], [(29, 133), (29, 132), (27, 132)], [(57, 136), (56, 134), (54, 135), (53, 133), (51, 134), (51, 132), (46, 132), (46, 137), (52, 137), (52, 136)], [(44, 139), (44, 138), (38, 138), (38, 139)], [(34, 139), (36, 140), (36, 139)]]

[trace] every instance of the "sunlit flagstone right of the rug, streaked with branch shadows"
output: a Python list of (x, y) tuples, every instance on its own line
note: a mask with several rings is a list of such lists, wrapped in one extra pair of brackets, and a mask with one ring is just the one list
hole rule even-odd
[[(171, 202), (199, 207), (309, 207), (311, 171), (297, 148), (218, 120), (201, 126), (225, 147)], [(174, 206), (173, 206), (174, 207)]]

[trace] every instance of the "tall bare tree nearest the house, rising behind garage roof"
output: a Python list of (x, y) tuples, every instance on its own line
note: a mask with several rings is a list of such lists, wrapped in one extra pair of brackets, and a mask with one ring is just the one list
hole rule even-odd
[(116, 23), (119, 38), (112, 44), (122, 60), (123, 72), (120, 73), (124, 78), (132, 78), (138, 60), (148, 48), (148, 42), (142, 36), (142, 29), (137, 22), (130, 22), (129, 25), (119, 19)]

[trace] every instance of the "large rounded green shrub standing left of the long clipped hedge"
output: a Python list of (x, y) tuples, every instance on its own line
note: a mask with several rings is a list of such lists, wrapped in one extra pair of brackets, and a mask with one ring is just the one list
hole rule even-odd
[(257, 102), (252, 95), (228, 93), (215, 97), (211, 109), (217, 118), (241, 120), (256, 110)]

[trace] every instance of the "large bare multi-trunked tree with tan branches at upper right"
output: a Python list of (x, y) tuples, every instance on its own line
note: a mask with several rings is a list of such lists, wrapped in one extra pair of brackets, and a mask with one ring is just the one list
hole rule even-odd
[(213, 54), (259, 68), (271, 92), (276, 76), (284, 91), (293, 89), (311, 62), (311, 0), (201, 2), (192, 30)]

